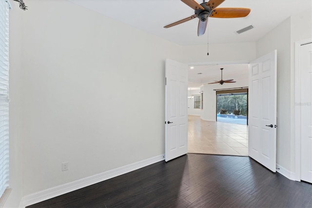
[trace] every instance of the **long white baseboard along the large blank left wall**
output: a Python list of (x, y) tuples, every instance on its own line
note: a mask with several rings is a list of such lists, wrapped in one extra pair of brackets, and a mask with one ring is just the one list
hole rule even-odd
[(87, 187), (87, 186), (99, 183), (101, 181), (114, 178), (116, 176), (137, 170), (139, 168), (163, 161), (164, 159), (165, 159), (165, 155), (158, 155), (156, 157), (142, 160), (142, 161), (130, 164), (130, 165), (118, 167), (116, 169), (108, 170), (108, 171), (105, 171), (105, 172), (102, 172), (93, 176), (89, 176), (86, 178), (82, 178), (82, 179), (70, 182), (70, 183), (62, 184), (57, 187), (48, 188), (48, 189), (45, 189), (36, 193), (26, 195), (22, 198), (21, 207), (33, 205), (33, 204), (42, 202), (44, 200), (51, 199), (53, 197), (77, 190), (79, 188)]

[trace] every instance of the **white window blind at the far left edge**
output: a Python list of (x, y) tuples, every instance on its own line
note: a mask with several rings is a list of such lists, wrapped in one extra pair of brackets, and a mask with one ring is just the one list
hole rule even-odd
[(0, 196), (9, 186), (9, 10), (0, 0)]

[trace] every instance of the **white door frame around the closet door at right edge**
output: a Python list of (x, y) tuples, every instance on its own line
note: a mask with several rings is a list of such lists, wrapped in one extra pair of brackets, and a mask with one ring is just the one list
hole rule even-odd
[(300, 121), (300, 46), (312, 42), (312, 39), (306, 39), (294, 43), (294, 146), (295, 146), (295, 181), (301, 181), (301, 121)]

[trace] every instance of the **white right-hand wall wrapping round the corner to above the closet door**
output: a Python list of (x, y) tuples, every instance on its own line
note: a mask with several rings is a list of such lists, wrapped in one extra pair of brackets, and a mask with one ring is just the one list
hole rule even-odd
[(257, 42), (257, 57), (277, 49), (276, 163), (294, 170), (294, 42), (312, 37), (311, 9), (295, 14)]

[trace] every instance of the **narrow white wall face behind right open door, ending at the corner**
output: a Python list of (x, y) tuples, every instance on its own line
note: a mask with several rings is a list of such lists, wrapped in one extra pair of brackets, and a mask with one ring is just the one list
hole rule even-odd
[(276, 163), (290, 170), (290, 19), (257, 42), (257, 57), (277, 49)]

